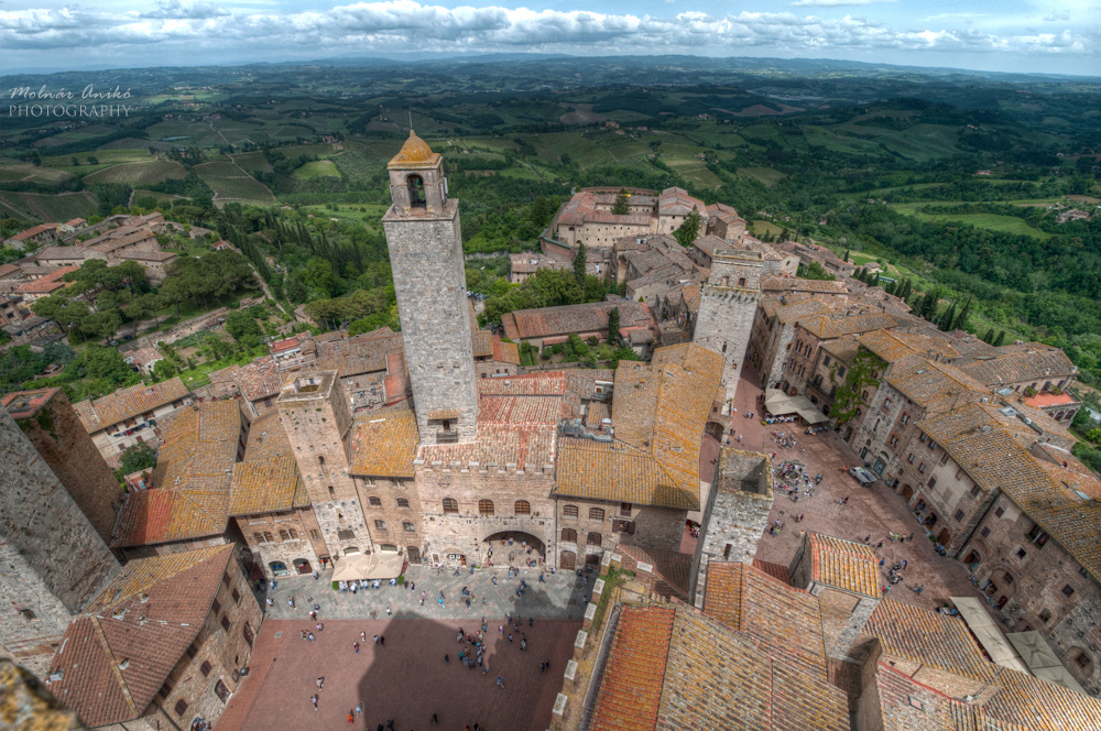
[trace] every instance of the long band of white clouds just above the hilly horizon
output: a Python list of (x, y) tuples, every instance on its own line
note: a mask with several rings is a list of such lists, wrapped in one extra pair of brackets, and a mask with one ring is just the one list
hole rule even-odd
[[(108, 48), (123, 57), (129, 47), (160, 46), (159, 53), (215, 61), (282, 61), (351, 53), (538, 51), (581, 54), (697, 53), (710, 55), (832, 55), (882, 57), (881, 51), (948, 54), (1067, 54), (1093, 62), (1098, 43), (1087, 29), (1058, 34), (981, 32), (951, 26), (950, 19), (925, 28), (892, 28), (864, 18), (824, 19), (793, 12), (668, 17), (589, 11), (531, 10), (468, 6), (445, 8), (414, 0), (356, 2), (325, 10), (282, 12), (268, 0), (210, 2), (162, 0), (152, 12), (135, 14), (72, 7), (0, 11), (0, 47), (9, 67), (22, 53), (56, 51), (83, 58), (87, 48)], [(864, 4), (871, 0), (844, 0)], [(241, 3), (260, 7), (241, 8)], [(800, 0), (795, 4), (841, 4), (841, 0)], [(922, 22), (922, 21), (918, 21)], [(948, 26), (946, 26), (948, 25)], [(105, 52), (106, 53), (106, 52)], [(146, 52), (131, 54), (148, 57)], [(940, 62), (933, 62), (938, 65)], [(948, 63), (947, 61), (945, 63)], [(1080, 63), (1068, 62), (1068, 68)]]

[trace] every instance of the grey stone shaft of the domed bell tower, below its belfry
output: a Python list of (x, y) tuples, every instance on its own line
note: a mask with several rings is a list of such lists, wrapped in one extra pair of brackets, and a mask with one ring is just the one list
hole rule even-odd
[(382, 222), (421, 443), (436, 444), (445, 421), (459, 441), (472, 441), (478, 389), (458, 201), (440, 216), (404, 215), (395, 205)]

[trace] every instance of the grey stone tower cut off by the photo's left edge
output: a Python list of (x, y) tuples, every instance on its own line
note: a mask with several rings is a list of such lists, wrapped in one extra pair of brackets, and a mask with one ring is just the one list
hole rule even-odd
[(0, 655), (42, 677), (73, 613), (119, 563), (3, 408), (0, 485)]

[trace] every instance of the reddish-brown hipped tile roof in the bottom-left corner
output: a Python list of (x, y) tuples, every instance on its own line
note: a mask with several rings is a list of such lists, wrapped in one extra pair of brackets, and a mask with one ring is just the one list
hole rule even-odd
[(50, 673), (89, 727), (139, 718), (198, 635), (232, 546), (128, 563), (78, 615)]

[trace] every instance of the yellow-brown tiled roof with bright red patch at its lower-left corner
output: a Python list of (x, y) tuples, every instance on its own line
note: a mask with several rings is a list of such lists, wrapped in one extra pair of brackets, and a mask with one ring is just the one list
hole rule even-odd
[(131, 492), (119, 511), (113, 547), (220, 535), (229, 517), (230, 485), (241, 433), (236, 401), (183, 410), (163, 428), (153, 487)]

